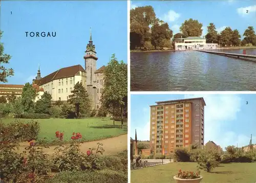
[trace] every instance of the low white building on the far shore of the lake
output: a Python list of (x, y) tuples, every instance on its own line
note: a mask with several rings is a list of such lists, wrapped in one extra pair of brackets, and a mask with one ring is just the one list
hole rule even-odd
[(186, 37), (175, 39), (175, 50), (215, 50), (218, 48), (217, 43), (206, 43), (205, 38)]

